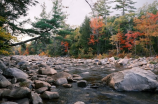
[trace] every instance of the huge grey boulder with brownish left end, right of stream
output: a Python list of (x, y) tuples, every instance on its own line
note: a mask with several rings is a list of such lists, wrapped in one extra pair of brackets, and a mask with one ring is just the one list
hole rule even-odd
[(157, 76), (138, 67), (109, 74), (102, 81), (118, 91), (148, 91), (158, 87)]

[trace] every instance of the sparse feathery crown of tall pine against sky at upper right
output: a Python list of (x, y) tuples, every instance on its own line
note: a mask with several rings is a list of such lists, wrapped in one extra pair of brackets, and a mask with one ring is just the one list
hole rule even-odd
[(121, 9), (122, 15), (125, 15), (125, 11), (134, 12), (133, 9), (136, 9), (134, 6), (132, 6), (136, 2), (133, 2), (132, 0), (115, 0), (114, 2), (118, 3), (114, 9)]

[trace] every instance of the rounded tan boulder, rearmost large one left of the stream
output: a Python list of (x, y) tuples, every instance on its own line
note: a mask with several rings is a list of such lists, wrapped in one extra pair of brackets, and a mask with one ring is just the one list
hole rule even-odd
[(54, 70), (53, 68), (41, 68), (39, 69), (39, 74), (44, 74), (44, 75), (52, 75), (52, 74), (56, 74), (57, 71)]

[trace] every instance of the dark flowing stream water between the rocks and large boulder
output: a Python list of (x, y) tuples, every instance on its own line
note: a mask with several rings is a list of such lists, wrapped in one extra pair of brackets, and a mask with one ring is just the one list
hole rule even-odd
[[(82, 101), (85, 104), (158, 104), (158, 93), (154, 92), (118, 92), (101, 83), (106, 75), (123, 69), (110, 70), (101, 66), (71, 66), (69, 73), (78, 74), (88, 82), (85, 88), (77, 87), (73, 82), (72, 88), (57, 87), (60, 98), (56, 100), (45, 100), (45, 104), (74, 104)], [(91, 88), (92, 85), (99, 87)]]

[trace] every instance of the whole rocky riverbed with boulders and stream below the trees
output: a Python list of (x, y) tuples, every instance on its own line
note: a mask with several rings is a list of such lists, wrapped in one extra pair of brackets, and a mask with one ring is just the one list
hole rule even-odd
[(0, 58), (2, 104), (156, 104), (154, 57), (73, 59)]

